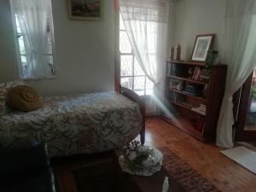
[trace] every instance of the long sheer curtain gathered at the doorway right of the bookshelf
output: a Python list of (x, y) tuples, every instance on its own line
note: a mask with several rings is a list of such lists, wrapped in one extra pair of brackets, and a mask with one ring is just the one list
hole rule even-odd
[(226, 90), (218, 119), (217, 145), (233, 147), (232, 96), (256, 67), (256, 0), (226, 0)]

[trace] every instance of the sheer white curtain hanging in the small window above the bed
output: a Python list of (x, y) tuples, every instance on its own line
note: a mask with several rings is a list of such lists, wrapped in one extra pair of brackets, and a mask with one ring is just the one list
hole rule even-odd
[[(50, 0), (14, 0), (15, 14), (20, 22), (26, 48), (25, 79), (44, 79), (52, 76), (49, 59), (49, 25), (52, 24)], [(50, 26), (51, 28), (51, 26)]]

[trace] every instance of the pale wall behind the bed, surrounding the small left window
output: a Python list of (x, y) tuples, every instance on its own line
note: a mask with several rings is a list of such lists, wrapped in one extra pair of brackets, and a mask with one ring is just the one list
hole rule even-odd
[[(0, 3), (0, 82), (19, 78), (8, 2)], [(28, 82), (41, 94), (113, 90), (113, 1), (103, 2), (102, 21), (87, 21), (69, 20), (67, 1), (52, 0), (57, 74), (55, 79)], [(2, 56), (1, 52), (9, 56)]]

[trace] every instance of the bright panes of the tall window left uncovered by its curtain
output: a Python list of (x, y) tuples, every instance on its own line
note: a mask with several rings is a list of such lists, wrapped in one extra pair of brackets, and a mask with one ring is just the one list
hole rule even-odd
[[(156, 32), (156, 25), (152, 25), (152, 32)], [(153, 42), (154, 43), (154, 42)], [(150, 59), (155, 66), (155, 46), (149, 44), (152, 51)], [(120, 84), (134, 90), (139, 96), (151, 95), (153, 83), (146, 77), (131, 48), (131, 43), (125, 31), (124, 22), (119, 14), (119, 53), (120, 53)]]

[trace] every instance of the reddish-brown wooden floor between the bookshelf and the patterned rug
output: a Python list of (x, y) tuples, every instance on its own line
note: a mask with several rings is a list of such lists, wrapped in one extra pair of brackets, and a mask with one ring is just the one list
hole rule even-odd
[[(220, 154), (214, 143), (201, 143), (163, 119), (146, 120), (146, 143), (170, 148), (223, 192), (256, 192), (256, 175)], [(77, 192), (71, 170), (82, 162), (76, 161), (53, 167), (61, 192)]]

